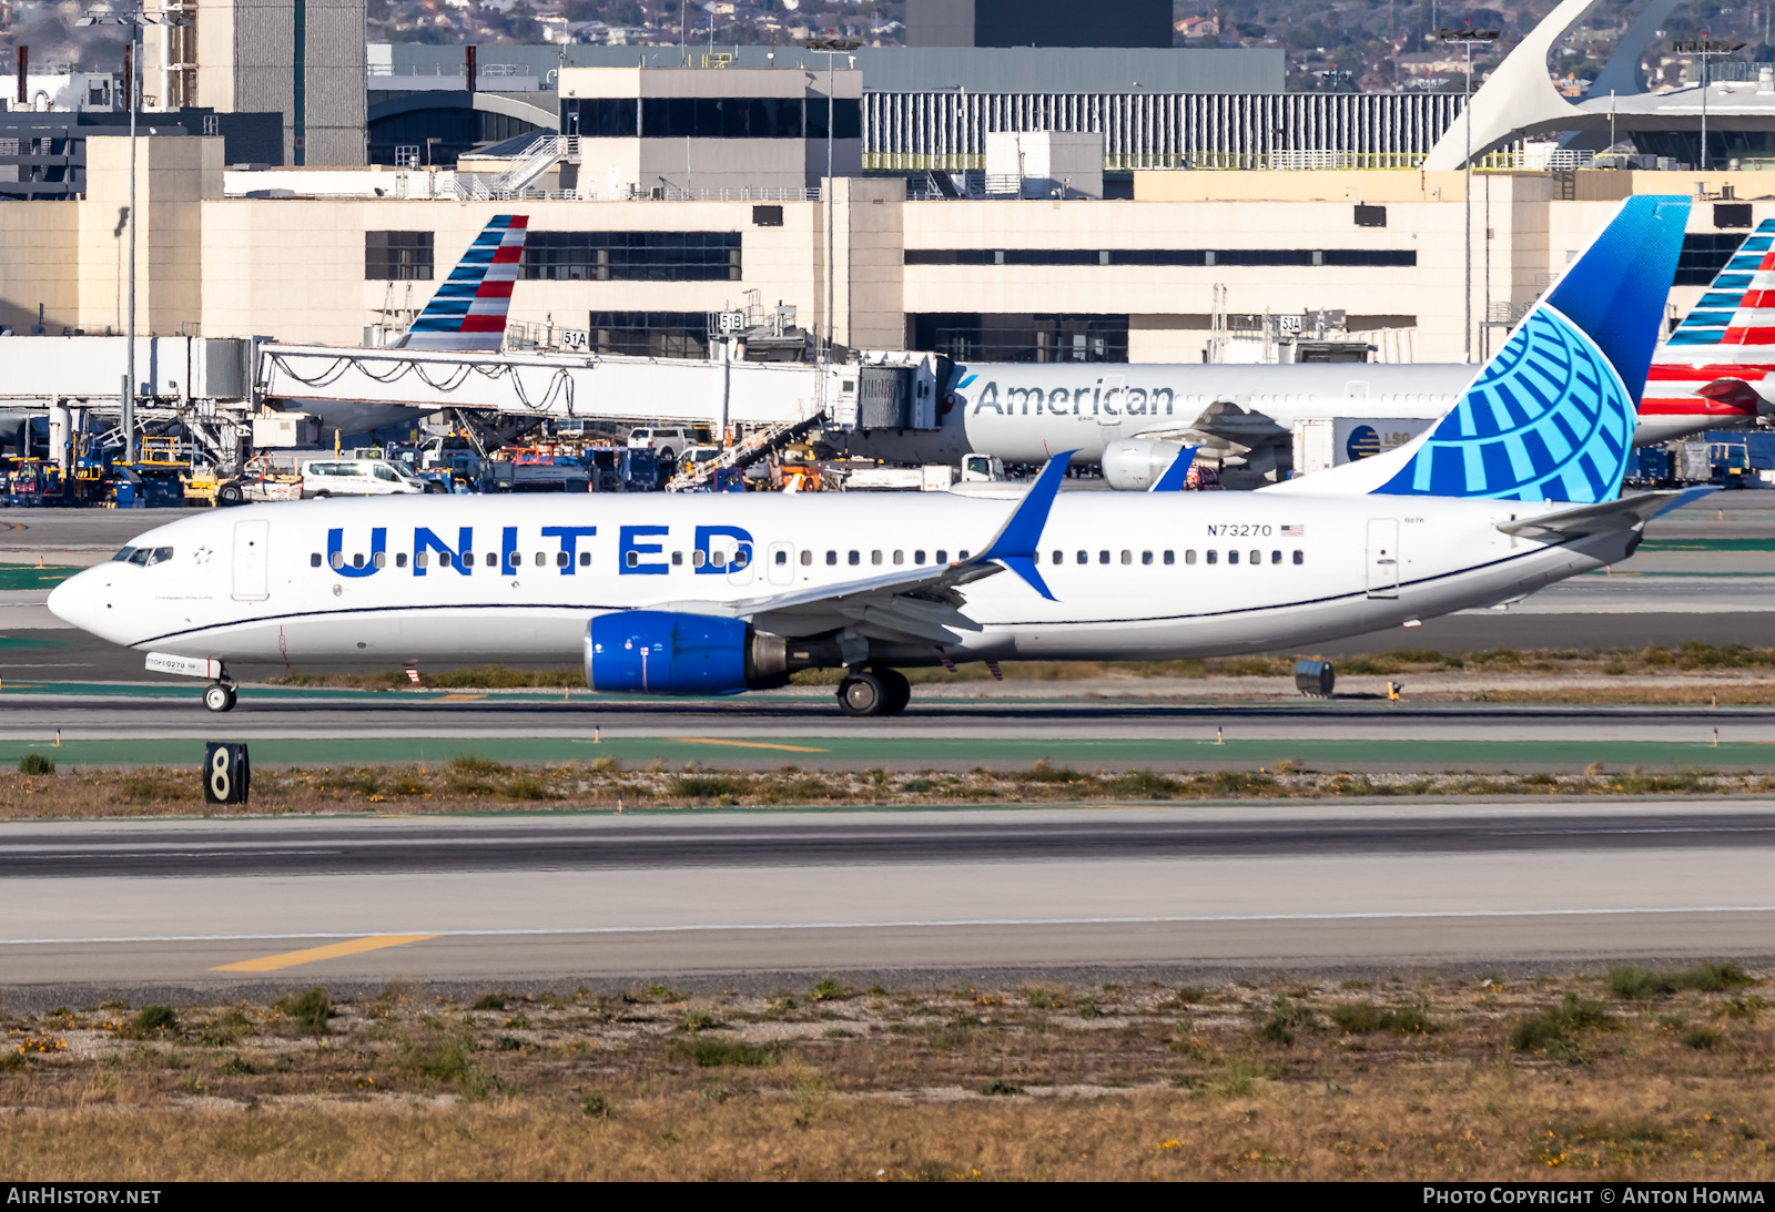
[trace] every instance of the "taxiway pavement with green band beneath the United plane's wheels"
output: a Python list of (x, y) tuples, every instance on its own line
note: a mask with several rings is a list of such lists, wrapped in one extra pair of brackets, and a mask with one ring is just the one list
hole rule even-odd
[[(1028, 767), (1038, 759), (1138, 767), (1269, 765), (1283, 756), (1349, 770), (1775, 768), (1775, 708), (1285, 699), (923, 697), (900, 717), (840, 715), (829, 690), (733, 699), (584, 694), (376, 696), (243, 690), (225, 717), (190, 690), (140, 697), (0, 694), (0, 763), (186, 765), (204, 740), (247, 742), (259, 765), (618, 758), (758, 768)], [(158, 689), (156, 689), (158, 690)]]

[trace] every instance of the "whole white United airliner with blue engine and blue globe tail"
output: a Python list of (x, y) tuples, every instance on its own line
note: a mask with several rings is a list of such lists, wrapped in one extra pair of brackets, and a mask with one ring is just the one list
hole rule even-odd
[(1255, 493), (380, 497), (156, 527), (50, 609), (151, 669), (580, 657), (596, 690), (730, 694), (843, 667), (1175, 658), (1395, 626), (1626, 559), (1677, 493), (1617, 499), (1688, 202), (1635, 197), (1443, 421)]

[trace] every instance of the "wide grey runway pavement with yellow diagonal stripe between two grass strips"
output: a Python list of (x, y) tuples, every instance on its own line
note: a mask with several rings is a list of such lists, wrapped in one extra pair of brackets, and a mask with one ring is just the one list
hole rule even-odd
[(1775, 955), (1775, 804), (14, 825), (0, 985)]

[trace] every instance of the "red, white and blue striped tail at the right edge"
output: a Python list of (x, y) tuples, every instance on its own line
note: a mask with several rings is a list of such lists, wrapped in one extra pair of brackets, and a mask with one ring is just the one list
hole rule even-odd
[(1640, 401), (1640, 426), (1658, 435), (1653, 440), (1750, 424), (1764, 392), (1775, 390), (1771, 245), (1775, 218), (1764, 218), (1658, 346)]

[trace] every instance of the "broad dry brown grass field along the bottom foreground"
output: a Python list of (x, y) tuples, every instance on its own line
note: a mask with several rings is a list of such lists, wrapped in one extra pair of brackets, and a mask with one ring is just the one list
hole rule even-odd
[(396, 985), (334, 1006), (325, 1036), (257, 1003), (151, 1015), (149, 1033), (119, 1004), (7, 1015), (0, 1169), (1770, 1180), (1775, 1031), (1754, 976), (1708, 972), (1656, 974), (1649, 1001), (1601, 976), (460, 1001)]

